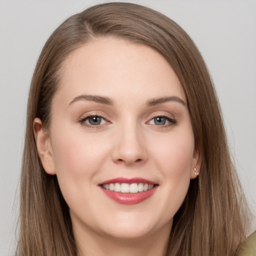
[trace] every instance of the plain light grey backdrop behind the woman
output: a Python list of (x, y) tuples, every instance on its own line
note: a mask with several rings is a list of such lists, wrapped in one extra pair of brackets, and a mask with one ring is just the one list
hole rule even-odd
[[(50, 33), (103, 1), (0, 0), (0, 255), (13, 255), (29, 83)], [(256, 1), (134, 0), (181, 25), (201, 51), (222, 106), (233, 158), (256, 215)], [(210, 114), (210, 113), (209, 113)], [(252, 228), (256, 228), (255, 220)]]

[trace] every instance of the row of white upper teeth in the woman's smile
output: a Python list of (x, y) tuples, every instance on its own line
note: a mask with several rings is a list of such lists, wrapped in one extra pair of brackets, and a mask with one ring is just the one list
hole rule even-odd
[(153, 188), (153, 184), (147, 184), (147, 183), (109, 183), (109, 184), (102, 184), (103, 188), (115, 191), (115, 192), (121, 192), (121, 193), (137, 193), (142, 191), (147, 191)]

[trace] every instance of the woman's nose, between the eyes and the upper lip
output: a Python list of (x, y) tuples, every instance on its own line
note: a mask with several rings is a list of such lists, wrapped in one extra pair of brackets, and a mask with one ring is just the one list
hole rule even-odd
[(119, 164), (141, 164), (147, 160), (146, 140), (136, 125), (119, 127), (114, 135), (112, 160)]

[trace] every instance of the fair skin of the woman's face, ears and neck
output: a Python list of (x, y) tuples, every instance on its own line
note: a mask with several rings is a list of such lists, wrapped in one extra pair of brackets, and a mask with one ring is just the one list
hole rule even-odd
[[(63, 74), (50, 127), (43, 129), (38, 118), (33, 127), (43, 168), (57, 175), (70, 208), (79, 255), (163, 255), (173, 215), (196, 177), (193, 168), (200, 169), (179, 79), (155, 50), (111, 37), (72, 52)], [(147, 104), (161, 97), (180, 102)], [(101, 123), (89, 124), (88, 114), (102, 116)], [(156, 125), (155, 116), (174, 122)], [(116, 177), (141, 177), (158, 187), (140, 203), (119, 204), (98, 186)]]

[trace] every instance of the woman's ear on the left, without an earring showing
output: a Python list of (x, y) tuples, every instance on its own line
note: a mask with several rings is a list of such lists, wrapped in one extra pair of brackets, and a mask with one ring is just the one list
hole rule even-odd
[(54, 175), (55, 163), (49, 134), (42, 128), (39, 118), (33, 120), (33, 131), (38, 155), (46, 173)]

